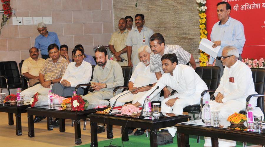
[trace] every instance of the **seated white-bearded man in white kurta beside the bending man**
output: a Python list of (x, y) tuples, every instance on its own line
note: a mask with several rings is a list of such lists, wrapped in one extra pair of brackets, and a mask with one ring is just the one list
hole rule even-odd
[[(137, 87), (145, 86), (148, 84), (155, 85), (155, 83), (157, 82), (155, 73), (150, 72), (150, 66), (149, 66), (149, 64), (150, 64), (150, 53), (151, 53), (150, 47), (149, 46), (141, 46), (138, 49), (138, 53), (139, 53), (139, 58), (140, 58), (141, 62), (138, 63), (134, 72), (132, 73), (132, 76), (131, 76), (129, 83), (128, 83), (129, 90), (124, 91), (124, 92), (116, 95), (115, 97), (111, 98), (110, 99), (110, 106), (112, 106), (113, 103), (115, 102), (115, 100), (119, 96), (121, 96), (122, 94), (125, 94), (129, 91), (135, 90)], [(145, 91), (148, 91), (151, 88), (152, 87), (146, 86), (146, 87), (140, 88), (139, 90), (136, 90), (132, 93), (128, 93), (124, 96), (121, 96), (118, 98), (115, 106), (122, 106), (122, 105), (124, 105), (125, 102), (129, 102), (129, 101), (132, 101), (132, 103), (136, 103), (140, 98), (142, 98)], [(160, 94), (158, 93), (155, 96), (155, 98), (153, 98), (152, 101), (158, 101), (159, 96), (160, 96)]]

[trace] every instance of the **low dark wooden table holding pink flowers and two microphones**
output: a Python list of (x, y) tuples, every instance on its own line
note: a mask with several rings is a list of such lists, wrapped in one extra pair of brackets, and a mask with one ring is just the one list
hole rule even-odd
[[(162, 115), (163, 114), (163, 115)], [(157, 147), (157, 131), (160, 128), (174, 126), (188, 121), (191, 116), (173, 113), (161, 113), (160, 117), (133, 118), (128, 116), (89, 114), (91, 126), (91, 145), (97, 145), (97, 123), (107, 124), (107, 138), (113, 138), (112, 125), (122, 126), (122, 141), (129, 141), (128, 127), (150, 129), (150, 146)]]

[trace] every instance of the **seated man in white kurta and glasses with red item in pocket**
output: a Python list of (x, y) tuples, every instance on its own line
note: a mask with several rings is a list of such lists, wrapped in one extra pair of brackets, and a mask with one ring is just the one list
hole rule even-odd
[[(238, 56), (236, 47), (226, 46), (223, 48), (221, 56), (221, 61), (225, 66), (223, 76), (214, 93), (215, 101), (209, 101), (211, 111), (220, 111), (219, 117), (221, 118), (228, 118), (235, 112), (245, 110), (247, 96), (256, 94), (252, 72), (246, 64), (238, 60)], [(249, 104), (255, 108), (257, 98), (251, 98)], [(262, 114), (261, 110), (260, 114)], [(204, 118), (203, 110), (202, 118)], [(218, 140), (219, 147), (236, 146), (236, 141)], [(205, 137), (204, 146), (211, 146), (211, 138)]]

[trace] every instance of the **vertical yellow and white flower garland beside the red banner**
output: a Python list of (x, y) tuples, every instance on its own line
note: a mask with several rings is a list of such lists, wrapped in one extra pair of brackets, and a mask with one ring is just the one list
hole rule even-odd
[[(208, 32), (206, 30), (206, 14), (205, 11), (207, 9), (207, 7), (205, 6), (206, 4), (206, 0), (196, 0), (197, 4), (198, 4), (198, 11), (199, 11), (199, 17), (200, 17), (200, 33), (201, 33), (201, 39), (206, 38), (207, 39), (207, 35)], [(204, 53), (203, 51), (200, 50), (200, 66), (207, 66), (209, 63), (209, 55)]]

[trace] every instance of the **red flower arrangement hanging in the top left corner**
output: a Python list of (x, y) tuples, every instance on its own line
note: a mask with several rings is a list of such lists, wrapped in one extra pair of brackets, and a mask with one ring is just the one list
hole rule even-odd
[(1, 33), (1, 29), (4, 27), (6, 22), (8, 22), (8, 20), (12, 16), (12, 10), (11, 10), (11, 7), (10, 7), (10, 0), (1, 0), (1, 1), (3, 3), (2, 6), (3, 6), (4, 14), (3, 14), (3, 17), (2, 17), (0, 33)]

